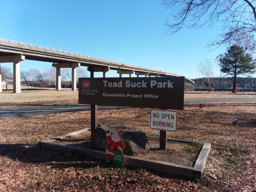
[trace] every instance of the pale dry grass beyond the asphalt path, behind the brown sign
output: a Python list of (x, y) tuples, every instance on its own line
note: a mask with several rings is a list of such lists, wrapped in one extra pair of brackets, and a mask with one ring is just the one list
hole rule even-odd
[[(255, 98), (255, 92), (210, 92), (187, 91), (185, 99), (213, 99), (213, 98)], [(0, 107), (13, 107), (18, 105), (49, 105), (63, 103), (78, 103), (78, 91), (53, 88), (23, 87), (21, 93), (12, 93), (12, 90), (3, 90), (0, 93)]]

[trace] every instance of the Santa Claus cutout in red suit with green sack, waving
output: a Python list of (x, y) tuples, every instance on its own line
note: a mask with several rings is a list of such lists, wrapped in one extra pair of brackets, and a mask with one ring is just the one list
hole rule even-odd
[(108, 145), (106, 152), (108, 154), (108, 163), (113, 163), (113, 166), (122, 167), (124, 165), (124, 155), (122, 153), (125, 148), (124, 142), (121, 137), (122, 134), (119, 131), (113, 131), (112, 135), (110, 131), (106, 131)]

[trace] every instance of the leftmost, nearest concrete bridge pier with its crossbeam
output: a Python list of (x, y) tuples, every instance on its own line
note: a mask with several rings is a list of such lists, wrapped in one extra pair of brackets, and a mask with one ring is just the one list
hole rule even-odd
[[(0, 63), (13, 63), (13, 93), (21, 93), (20, 61), (23, 61), (24, 59), (24, 55), (0, 56)], [(0, 86), (2, 90), (2, 83), (0, 83)]]

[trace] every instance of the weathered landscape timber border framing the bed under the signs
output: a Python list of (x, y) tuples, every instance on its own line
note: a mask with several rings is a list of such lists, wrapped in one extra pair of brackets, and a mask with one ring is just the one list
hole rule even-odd
[[(50, 148), (50, 149), (56, 149), (56, 150), (63, 150), (63, 151), (76, 151), (81, 154), (85, 154), (88, 157), (94, 158), (96, 160), (101, 160), (104, 162), (108, 161), (108, 156), (105, 151), (99, 151), (95, 149), (90, 148), (83, 148), (83, 147), (77, 147), (72, 145), (63, 145), (63, 144), (57, 144), (54, 143), (55, 141), (67, 138), (67, 137), (75, 137), (78, 134), (84, 133), (85, 131), (90, 131), (89, 128), (81, 129), (79, 131), (74, 131), (69, 134), (61, 135), (59, 137), (54, 137), (49, 140), (44, 140), (39, 142), (39, 145), (43, 148)], [(155, 138), (158, 139), (159, 137), (156, 136), (147, 136), (148, 138)], [(169, 173), (173, 175), (180, 175), (185, 177), (197, 177), (201, 178), (204, 167), (206, 165), (207, 157), (211, 148), (211, 143), (203, 143), (203, 142), (195, 142), (195, 141), (188, 141), (188, 140), (178, 140), (178, 139), (167, 139), (169, 141), (178, 141), (183, 143), (200, 143), (203, 144), (203, 147), (201, 148), (201, 151), (196, 159), (195, 165), (193, 167), (189, 166), (183, 166), (178, 165), (174, 163), (168, 163), (163, 161), (157, 161), (157, 160), (150, 160), (145, 159), (141, 157), (134, 157), (130, 155), (124, 155), (125, 156), (125, 165), (131, 165), (135, 167), (143, 167), (148, 168), (153, 171), (157, 172), (164, 172)]]

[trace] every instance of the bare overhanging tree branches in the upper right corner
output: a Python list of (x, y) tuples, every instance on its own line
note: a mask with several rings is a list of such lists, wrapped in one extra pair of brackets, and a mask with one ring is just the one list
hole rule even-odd
[(209, 46), (227, 43), (234, 35), (256, 32), (255, 0), (162, 0), (172, 14), (166, 20), (166, 33), (174, 34), (183, 27), (198, 29), (206, 24), (222, 27), (220, 38)]

